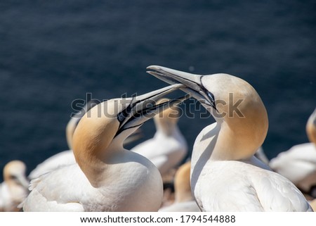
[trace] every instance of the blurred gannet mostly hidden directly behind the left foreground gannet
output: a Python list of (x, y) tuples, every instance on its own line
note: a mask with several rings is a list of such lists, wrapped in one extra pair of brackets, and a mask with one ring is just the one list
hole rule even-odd
[[(72, 151), (72, 137), (74, 134), (74, 130), (76, 129), (81, 119), (80, 114), (84, 115), (84, 113), (89, 111), (91, 107), (96, 106), (97, 104), (98, 104), (98, 101), (96, 100), (88, 101), (86, 106), (84, 106), (84, 108), (81, 109), (81, 113), (74, 115), (75, 117), (70, 117), (70, 120), (66, 126), (66, 139), (67, 139), (69, 150), (56, 153), (55, 155), (49, 158), (46, 158), (46, 160), (43, 161), (42, 163), (39, 163), (39, 165), (37, 165), (37, 167), (34, 168), (34, 170), (32, 170), (29, 173), (28, 177), (30, 180), (33, 180), (52, 170), (56, 170), (57, 168), (60, 168), (62, 166), (72, 165), (76, 163), (76, 160), (74, 159), (74, 153)], [(139, 137), (140, 137), (140, 130), (138, 129), (135, 132), (133, 132), (131, 136), (127, 137), (124, 140), (124, 144), (129, 144), (130, 142), (135, 141)]]

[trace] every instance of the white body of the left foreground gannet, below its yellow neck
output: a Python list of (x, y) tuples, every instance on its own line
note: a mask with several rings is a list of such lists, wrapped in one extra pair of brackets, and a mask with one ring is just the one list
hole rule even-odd
[[(123, 151), (107, 167), (103, 187), (93, 187), (77, 163), (32, 180), (24, 211), (157, 211), (152, 192), (161, 192), (159, 172), (152, 163)], [(72, 178), (72, 180), (65, 178)], [(53, 179), (53, 180), (52, 180)], [(140, 199), (141, 197), (141, 199)]]

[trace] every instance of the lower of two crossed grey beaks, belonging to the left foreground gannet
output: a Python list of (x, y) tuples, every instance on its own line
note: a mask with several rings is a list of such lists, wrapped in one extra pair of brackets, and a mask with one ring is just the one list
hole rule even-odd
[(183, 87), (183, 84), (173, 84), (169, 87), (157, 89), (147, 94), (134, 96), (129, 102), (128, 106), (126, 106), (126, 108), (124, 108), (124, 110), (121, 111), (117, 116), (118, 118), (121, 117), (124, 119), (121, 120), (119, 130), (117, 131), (115, 137), (124, 130), (132, 127), (139, 127), (145, 123), (145, 121), (153, 118), (154, 115), (157, 115), (157, 113), (160, 113), (167, 108), (170, 108), (175, 104), (179, 104), (185, 99), (189, 98), (189, 95), (185, 95), (178, 99), (172, 99), (159, 104), (157, 103), (157, 101), (163, 96), (173, 92), (176, 89), (179, 89), (180, 87)]

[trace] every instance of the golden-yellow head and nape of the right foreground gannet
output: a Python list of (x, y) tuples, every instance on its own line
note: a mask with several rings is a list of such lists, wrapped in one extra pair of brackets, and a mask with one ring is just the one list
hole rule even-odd
[[(268, 113), (260, 96), (251, 84), (233, 75), (216, 74), (203, 79), (206, 89), (216, 99), (216, 111), (212, 109), (211, 113), (220, 124), (216, 142), (218, 149), (231, 150), (234, 147), (229, 156), (220, 151), (213, 153), (212, 158), (251, 158), (268, 133)], [(234, 104), (236, 109), (232, 107)]]

